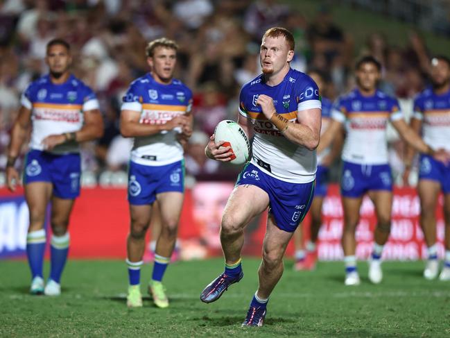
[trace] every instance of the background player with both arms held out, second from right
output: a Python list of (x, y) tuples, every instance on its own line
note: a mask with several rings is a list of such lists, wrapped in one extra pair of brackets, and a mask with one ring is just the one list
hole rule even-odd
[(375, 206), (377, 227), (374, 248), (370, 257), (369, 279), (377, 284), (383, 279), (381, 255), (388, 241), (392, 213), (392, 176), (388, 164), (388, 121), (401, 138), (417, 151), (446, 161), (449, 154), (435, 151), (413, 129), (409, 128), (399, 110), (397, 99), (377, 89), (381, 78), (381, 65), (372, 56), (356, 63), (356, 89), (340, 97), (334, 105), (334, 121), (325, 131), (321, 144), (327, 146), (336, 133), (346, 126), (342, 154), (343, 173), (340, 193), (344, 209), (343, 250), (345, 285), (359, 285), (356, 268), (356, 226), (363, 196), (368, 194)]

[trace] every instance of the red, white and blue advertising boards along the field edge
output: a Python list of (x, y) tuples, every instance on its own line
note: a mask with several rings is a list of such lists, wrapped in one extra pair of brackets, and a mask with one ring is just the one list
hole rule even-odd
[[(180, 257), (195, 259), (221, 255), (218, 231), (220, 218), (234, 183), (197, 183), (187, 189), (180, 221)], [(443, 198), (440, 196), (438, 219), (439, 255), (444, 255)], [(23, 197), (0, 189), (0, 257), (24, 253), (28, 212)], [(26, 205), (25, 205), (26, 207)], [(395, 189), (392, 210), (392, 231), (383, 257), (386, 260), (417, 260), (424, 257), (424, 241), (419, 228), (420, 205), (414, 189)], [(340, 237), (343, 211), (337, 185), (329, 187), (324, 199), (324, 222), (320, 230), (318, 254), (320, 260), (340, 260), (343, 257)], [(126, 189), (84, 188), (77, 199), (70, 219), (70, 256), (76, 258), (124, 258), (129, 229)], [(304, 221), (306, 233), (307, 223)], [(373, 230), (377, 223), (374, 206), (365, 198), (361, 221), (356, 231), (356, 255), (365, 259), (372, 250)], [(253, 219), (245, 230), (245, 255), (261, 255), (266, 230), (266, 213)], [(49, 237), (49, 236), (48, 236)], [(293, 245), (288, 246), (288, 255)]]

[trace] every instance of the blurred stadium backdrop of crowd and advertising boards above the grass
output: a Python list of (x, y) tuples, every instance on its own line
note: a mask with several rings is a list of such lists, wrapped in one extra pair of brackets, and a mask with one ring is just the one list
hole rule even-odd
[[(46, 71), (45, 44), (67, 39), (75, 56), (73, 72), (98, 94), (105, 135), (83, 144), (83, 192), (71, 217), (71, 257), (124, 257), (128, 232), (126, 165), (130, 140), (119, 135), (121, 96), (133, 78), (144, 74), (146, 42), (165, 35), (180, 44), (176, 76), (194, 92), (195, 129), (187, 150), (187, 199), (180, 224), (184, 259), (220, 255), (220, 213), (239, 167), (207, 160), (207, 136), (222, 119), (235, 119), (243, 83), (259, 72), (257, 53), (266, 28), (282, 25), (295, 35), (293, 67), (327, 74), (324, 96), (336, 99), (354, 85), (352, 65), (372, 53), (383, 64), (381, 87), (395, 95), (408, 118), (415, 94), (427, 84), (428, 60), (450, 50), (450, 1), (1, 1), (0, 22), (0, 257), (24, 254), (27, 209), (21, 194), (4, 188), (6, 146), (29, 81)], [(397, 183), (394, 221), (386, 259), (422, 257), (419, 205), (414, 189), (401, 187), (403, 143), (388, 130), (390, 162)], [(26, 151), (26, 149), (24, 149)], [(23, 160), (23, 158), (22, 158)], [(20, 162), (20, 161), (19, 161)], [(20, 163), (19, 163), (20, 165)], [(340, 163), (331, 171), (338, 179)], [(417, 169), (410, 176), (417, 181)], [(3, 186), (3, 188), (1, 188)], [(208, 196), (208, 198), (205, 198)], [(441, 200), (442, 203), (442, 200)], [(114, 210), (114, 212), (111, 212)], [(342, 257), (342, 208), (332, 185), (320, 233), (322, 260)], [(375, 219), (372, 203), (363, 206), (358, 227), (358, 257), (370, 252)], [(110, 218), (108, 218), (110, 217)], [(307, 223), (307, 221), (305, 222)], [(92, 233), (109, 236), (92, 242)], [(444, 235), (438, 214), (440, 255)], [(248, 228), (246, 253), (259, 255), (263, 217)], [(90, 235), (88, 235), (90, 234)], [(95, 244), (95, 245), (94, 245)], [(98, 247), (100, 246), (100, 248)], [(291, 246), (288, 253), (292, 252)]]

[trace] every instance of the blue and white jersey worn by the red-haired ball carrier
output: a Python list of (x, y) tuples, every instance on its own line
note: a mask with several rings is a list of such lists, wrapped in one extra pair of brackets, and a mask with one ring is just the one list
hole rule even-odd
[(264, 83), (263, 74), (245, 84), (239, 98), (239, 113), (252, 122), (254, 140), (251, 162), (266, 174), (291, 183), (309, 183), (315, 178), (315, 151), (289, 141), (263, 115), (256, 104), (258, 96), (270, 96), (275, 110), (289, 121), (298, 123), (302, 110), (321, 108), (315, 82), (301, 71), (290, 69), (282, 83), (273, 87)]

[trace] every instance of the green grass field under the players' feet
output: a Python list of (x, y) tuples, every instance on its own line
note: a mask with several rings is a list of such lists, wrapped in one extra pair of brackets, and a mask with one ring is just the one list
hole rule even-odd
[[(126, 307), (125, 262), (74, 261), (62, 277), (62, 296), (28, 294), (24, 261), (0, 262), (1, 337), (450, 337), (450, 284), (422, 278), (422, 262), (386, 262), (381, 285), (343, 285), (343, 263), (322, 262), (317, 271), (286, 269), (268, 305), (263, 328), (241, 328), (257, 287), (259, 260), (243, 262), (245, 277), (216, 303), (204, 304), (202, 288), (223, 260), (177, 262), (164, 283), (171, 306)], [(48, 266), (46, 266), (48, 271)], [(143, 269), (142, 280), (151, 268)], [(144, 286), (143, 282), (143, 286)], [(143, 290), (144, 291), (144, 290)]]

